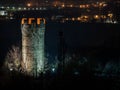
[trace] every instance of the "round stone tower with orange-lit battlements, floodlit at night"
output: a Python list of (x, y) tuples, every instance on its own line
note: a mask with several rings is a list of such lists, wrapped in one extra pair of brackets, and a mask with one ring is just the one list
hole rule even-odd
[(44, 71), (45, 20), (24, 18), (21, 30), (24, 70), (28, 75), (39, 76)]

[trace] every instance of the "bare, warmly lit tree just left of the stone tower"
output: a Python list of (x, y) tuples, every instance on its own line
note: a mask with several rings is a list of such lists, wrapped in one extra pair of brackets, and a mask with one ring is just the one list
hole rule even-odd
[(19, 46), (12, 46), (5, 58), (5, 66), (10, 70), (19, 71), (21, 69), (21, 49)]

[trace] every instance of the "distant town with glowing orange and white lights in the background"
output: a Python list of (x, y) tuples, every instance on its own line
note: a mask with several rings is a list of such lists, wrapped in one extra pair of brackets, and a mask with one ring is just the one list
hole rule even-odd
[[(37, 3), (29, 1), (24, 4), (2, 4), (0, 5), (0, 20), (15, 19), (15, 12), (22, 11), (57, 11), (50, 20), (96, 23), (119, 23), (120, 22), (120, 0), (84, 0), (84, 1), (47, 1)], [(23, 15), (24, 17), (24, 15)]]

